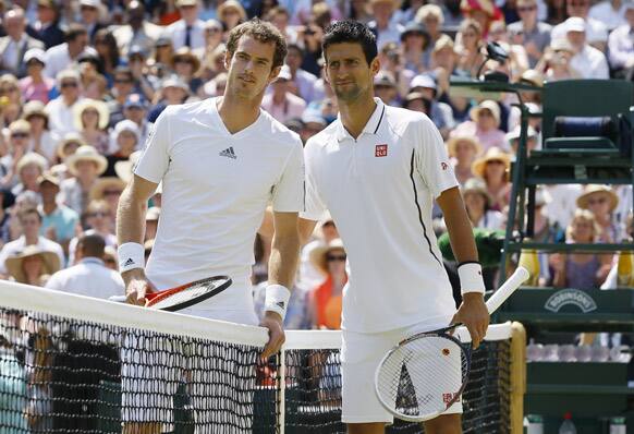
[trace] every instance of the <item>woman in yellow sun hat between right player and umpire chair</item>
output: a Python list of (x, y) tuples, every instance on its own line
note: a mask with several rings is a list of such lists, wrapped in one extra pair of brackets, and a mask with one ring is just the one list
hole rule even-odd
[(487, 185), (487, 192), (491, 196), (491, 209), (503, 212), (509, 204), (512, 186), (510, 169), (511, 157), (497, 147), (487, 150), (484, 157), (473, 164), (473, 172)]

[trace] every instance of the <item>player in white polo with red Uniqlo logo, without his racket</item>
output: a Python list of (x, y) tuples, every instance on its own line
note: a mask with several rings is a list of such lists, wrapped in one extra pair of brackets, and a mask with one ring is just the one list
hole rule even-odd
[[(415, 331), (464, 323), (477, 345), (489, 315), (477, 251), (458, 181), (440, 133), (425, 114), (374, 97), (380, 70), (374, 34), (354, 21), (326, 33), (328, 81), (339, 118), (304, 149), (306, 239), (328, 209), (350, 262), (343, 292), (343, 422), (352, 434), (383, 433), (393, 418), (374, 391), (380, 359)], [(442, 208), (459, 268), (463, 303), (456, 312), (431, 229), (431, 206)], [(461, 433), (462, 405), (425, 422), (428, 434)]]

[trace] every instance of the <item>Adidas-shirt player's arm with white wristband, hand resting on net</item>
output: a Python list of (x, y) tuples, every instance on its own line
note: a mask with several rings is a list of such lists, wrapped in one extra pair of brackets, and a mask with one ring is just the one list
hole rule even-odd
[(267, 300), (265, 302), (266, 312), (261, 321), (261, 325), (269, 329), (269, 341), (263, 352), (265, 360), (278, 352), (284, 342), (283, 318), (280, 313), (275, 311), (276, 306), (271, 305), (271, 303), (278, 304), (278, 308), (281, 308), (283, 312), (288, 308), (288, 300), (278, 301), (277, 296), (271, 298), (269, 292), (271, 290), (283, 292), (284, 288), (290, 291), (293, 288), (300, 257), (297, 213), (273, 213), (273, 227)]

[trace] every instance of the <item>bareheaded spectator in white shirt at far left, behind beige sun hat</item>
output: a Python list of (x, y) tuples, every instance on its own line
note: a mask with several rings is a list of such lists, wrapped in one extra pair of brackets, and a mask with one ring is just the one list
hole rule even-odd
[(7, 274), (7, 258), (10, 256), (16, 256), (17, 254), (22, 253), (27, 245), (36, 245), (41, 250), (53, 252), (58, 255), (59, 263), (65, 264), (62, 246), (57, 242), (40, 237), (39, 229), (41, 228), (41, 215), (37, 208), (25, 208), (20, 212), (17, 218), (23, 234), (17, 240), (4, 244), (0, 251), (1, 274)]

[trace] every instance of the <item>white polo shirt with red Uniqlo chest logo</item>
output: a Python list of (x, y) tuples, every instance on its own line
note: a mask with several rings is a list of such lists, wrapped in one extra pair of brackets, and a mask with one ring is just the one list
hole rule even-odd
[(448, 325), (455, 303), (431, 207), (458, 181), (429, 118), (375, 101), (356, 141), (337, 119), (306, 144), (302, 217), (317, 220), (329, 209), (348, 252), (342, 328)]

